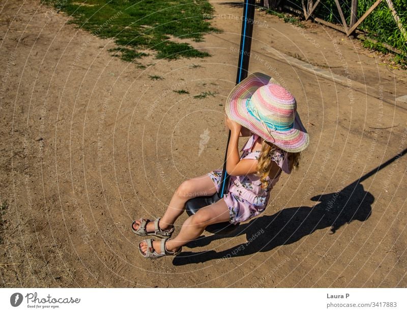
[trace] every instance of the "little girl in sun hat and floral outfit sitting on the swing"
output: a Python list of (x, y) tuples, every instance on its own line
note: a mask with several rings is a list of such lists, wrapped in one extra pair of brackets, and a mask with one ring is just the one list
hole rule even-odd
[[(218, 202), (188, 217), (178, 236), (169, 240), (173, 225), (190, 198), (219, 191), (221, 171), (183, 182), (162, 218), (154, 221), (141, 218), (132, 223), (135, 234), (162, 238), (141, 241), (139, 251), (143, 257), (177, 255), (183, 245), (199, 237), (208, 225), (225, 221), (236, 224), (263, 212), (281, 172), (290, 174), (298, 165), (300, 152), (309, 144), (296, 99), (270, 76), (253, 73), (242, 80), (230, 92), (225, 110), (225, 122), (231, 132), (226, 159), (226, 172), (230, 175), (228, 192)], [(241, 156), (240, 136), (250, 136)]]

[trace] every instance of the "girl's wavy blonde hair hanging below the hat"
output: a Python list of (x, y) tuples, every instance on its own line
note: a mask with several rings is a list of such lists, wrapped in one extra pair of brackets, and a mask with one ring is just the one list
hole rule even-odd
[[(266, 180), (267, 176), (270, 174), (270, 169), (272, 165), (272, 155), (275, 150), (273, 144), (268, 143), (266, 140), (263, 140), (261, 145), (260, 155), (258, 157), (258, 163), (256, 166), (256, 175), (260, 178), (261, 188), (267, 189), (269, 186), (269, 181)], [(301, 152), (288, 152), (288, 167), (289, 170), (297, 168), (300, 163)]]

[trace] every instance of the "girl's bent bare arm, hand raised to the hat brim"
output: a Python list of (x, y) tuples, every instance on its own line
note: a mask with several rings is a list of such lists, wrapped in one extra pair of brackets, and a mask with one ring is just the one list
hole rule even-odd
[(230, 129), (230, 141), (227, 147), (226, 172), (231, 176), (247, 175), (256, 172), (257, 160), (240, 159), (239, 135), (242, 126), (226, 118), (226, 125)]

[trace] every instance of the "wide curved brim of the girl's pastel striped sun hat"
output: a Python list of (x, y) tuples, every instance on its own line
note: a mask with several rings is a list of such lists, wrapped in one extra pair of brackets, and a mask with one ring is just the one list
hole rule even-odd
[(298, 112), (294, 119), (293, 128), (289, 130), (271, 130), (252, 117), (246, 109), (246, 100), (258, 88), (265, 86), (269, 82), (279, 84), (274, 78), (263, 73), (253, 73), (243, 79), (227, 97), (226, 115), (230, 120), (239, 123), (264, 140), (287, 152), (303, 151), (309, 145), (309, 136)]

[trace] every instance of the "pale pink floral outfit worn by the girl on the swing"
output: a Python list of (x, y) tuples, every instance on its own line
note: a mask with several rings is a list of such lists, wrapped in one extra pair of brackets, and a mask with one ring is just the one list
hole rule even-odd
[[(252, 135), (247, 140), (240, 159), (256, 159), (258, 160), (260, 150), (252, 151), (258, 135)], [(288, 168), (287, 152), (275, 147), (272, 155), (272, 160), (287, 174), (290, 173)], [(281, 171), (280, 171), (281, 174)], [(246, 221), (260, 213), (262, 213), (269, 202), (270, 190), (277, 183), (280, 174), (271, 179), (269, 176), (269, 186), (267, 189), (260, 187), (260, 178), (255, 174), (248, 174), (245, 176), (230, 176), (228, 192), (223, 195), (224, 201), (229, 208), (230, 222), (237, 224)], [(208, 173), (219, 192), (221, 186), (222, 170), (216, 169)]]

